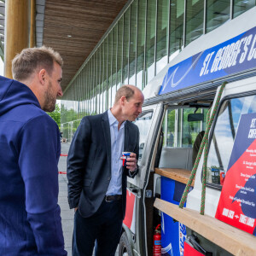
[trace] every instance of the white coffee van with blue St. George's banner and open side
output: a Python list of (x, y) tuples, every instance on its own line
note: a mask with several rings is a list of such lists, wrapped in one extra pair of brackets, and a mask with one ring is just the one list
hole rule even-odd
[(143, 90), (139, 172), (127, 181), (119, 255), (157, 255), (158, 224), (162, 255), (256, 255), (255, 11), (190, 43)]

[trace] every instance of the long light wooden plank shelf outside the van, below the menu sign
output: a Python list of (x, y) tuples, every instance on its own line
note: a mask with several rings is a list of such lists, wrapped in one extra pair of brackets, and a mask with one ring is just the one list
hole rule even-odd
[(194, 210), (181, 209), (159, 198), (155, 199), (154, 207), (234, 255), (256, 255), (255, 236), (245, 231), (238, 230), (216, 218), (201, 215)]

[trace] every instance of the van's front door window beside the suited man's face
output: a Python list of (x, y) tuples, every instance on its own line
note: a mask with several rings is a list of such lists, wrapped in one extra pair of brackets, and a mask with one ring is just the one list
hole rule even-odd
[(153, 111), (147, 111), (141, 113), (138, 118), (135, 120), (135, 125), (137, 125), (140, 132), (140, 143), (139, 143), (139, 157), (138, 159), (142, 159), (143, 150), (145, 143), (148, 138), (148, 131), (150, 130), (151, 122), (152, 122)]

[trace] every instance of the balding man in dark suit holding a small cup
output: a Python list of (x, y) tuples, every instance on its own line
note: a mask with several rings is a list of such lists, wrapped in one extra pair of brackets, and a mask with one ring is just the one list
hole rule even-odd
[[(73, 255), (114, 255), (125, 218), (126, 177), (137, 172), (139, 131), (131, 123), (144, 97), (133, 85), (116, 92), (113, 108), (82, 119), (67, 158), (68, 202), (75, 208)], [(131, 152), (122, 166), (122, 152)], [(78, 210), (77, 210), (78, 209)]]

